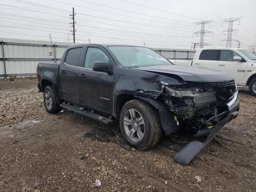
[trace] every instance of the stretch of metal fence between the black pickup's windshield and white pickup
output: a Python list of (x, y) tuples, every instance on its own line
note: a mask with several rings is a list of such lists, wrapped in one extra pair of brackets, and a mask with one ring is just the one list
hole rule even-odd
[(192, 50), (154, 50), (167, 59), (192, 60), (196, 51)]

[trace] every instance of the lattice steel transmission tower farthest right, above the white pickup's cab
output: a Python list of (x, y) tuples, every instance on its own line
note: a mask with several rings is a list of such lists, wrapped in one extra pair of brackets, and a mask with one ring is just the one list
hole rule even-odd
[(222, 25), (223, 25), (223, 23), (228, 22), (228, 30), (222, 31), (222, 33), (224, 35), (228, 35), (228, 37), (227, 37), (226, 40), (221, 40), (220, 41), (220, 43), (222, 41), (226, 41), (226, 47), (232, 47), (232, 41), (238, 41), (237, 39), (232, 39), (232, 34), (236, 34), (238, 32), (237, 29), (233, 29), (233, 24), (236, 21), (239, 21), (239, 23), (240, 23), (240, 18), (242, 18), (242, 17), (222, 19), (223, 20)]

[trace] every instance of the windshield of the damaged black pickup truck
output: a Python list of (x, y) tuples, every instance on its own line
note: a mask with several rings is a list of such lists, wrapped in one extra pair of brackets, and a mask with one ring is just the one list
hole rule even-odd
[(172, 64), (162, 55), (146, 47), (108, 46), (108, 48), (124, 67)]

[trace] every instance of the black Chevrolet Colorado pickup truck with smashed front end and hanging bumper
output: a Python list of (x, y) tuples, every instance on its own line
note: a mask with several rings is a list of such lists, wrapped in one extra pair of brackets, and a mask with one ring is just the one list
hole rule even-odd
[(195, 138), (205, 136), (205, 142), (190, 142), (176, 154), (181, 164), (188, 164), (239, 110), (229, 74), (174, 65), (146, 47), (72, 46), (60, 64), (39, 63), (37, 76), (49, 113), (66, 108), (106, 124), (119, 119), (124, 140), (139, 150), (181, 128)]

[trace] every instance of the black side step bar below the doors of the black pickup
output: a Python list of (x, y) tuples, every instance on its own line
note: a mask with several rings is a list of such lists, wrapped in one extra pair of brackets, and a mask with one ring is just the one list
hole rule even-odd
[(97, 121), (100, 121), (104, 124), (110, 124), (113, 122), (113, 120), (109, 119), (109, 118), (106, 118), (106, 117), (103, 117), (103, 116), (100, 116), (98, 114), (95, 114), (95, 113), (92, 113), (92, 112), (88, 112), (86, 110), (83, 110), (83, 109), (80, 109), (80, 108), (77, 108), (75, 106), (71, 106), (69, 104), (60, 104), (60, 106), (62, 108), (65, 108), (67, 110), (70, 110), (70, 111), (74, 111), (78, 114), (81, 114), (81, 115), (84, 115), (86, 117), (89, 117), (89, 118), (92, 118), (94, 120), (97, 120)]

